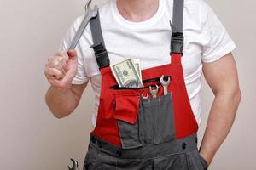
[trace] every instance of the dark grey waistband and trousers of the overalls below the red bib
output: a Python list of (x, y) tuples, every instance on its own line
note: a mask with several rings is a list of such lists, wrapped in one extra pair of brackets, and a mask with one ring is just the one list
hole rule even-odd
[[(196, 135), (193, 135), (172, 143), (122, 152), (100, 139), (94, 143), (90, 140), (84, 170), (207, 170), (207, 165), (196, 148), (195, 138)], [(186, 147), (183, 147), (184, 144), (187, 144)], [(147, 152), (147, 156), (144, 152)], [(132, 155), (131, 158), (128, 155)]]

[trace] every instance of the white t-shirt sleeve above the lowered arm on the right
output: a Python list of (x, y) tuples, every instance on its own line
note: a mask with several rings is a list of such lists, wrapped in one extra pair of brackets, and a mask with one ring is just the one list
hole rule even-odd
[(207, 43), (202, 47), (201, 59), (202, 62), (209, 63), (229, 54), (236, 48), (236, 44), (232, 41), (218, 16), (204, 1), (201, 3), (201, 16), (203, 31), (207, 39)]

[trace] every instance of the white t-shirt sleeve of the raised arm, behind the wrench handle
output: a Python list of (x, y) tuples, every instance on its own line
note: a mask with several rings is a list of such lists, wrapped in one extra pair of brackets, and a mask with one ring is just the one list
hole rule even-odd
[[(66, 35), (63, 37), (63, 40), (61, 42), (60, 51), (68, 50), (68, 48), (73, 40), (73, 37), (79, 28), (81, 20), (82, 20), (81, 17), (79, 17), (77, 20), (75, 20), (73, 22), (73, 25), (70, 26), (70, 28), (68, 29)], [(75, 50), (77, 51), (77, 54), (78, 54), (78, 71), (77, 71), (76, 76), (73, 78), (72, 83), (73, 84), (83, 84), (83, 83), (89, 81), (89, 77), (87, 76), (85, 67), (84, 67), (84, 54), (83, 54), (83, 50), (82, 50), (80, 44), (77, 45)]]

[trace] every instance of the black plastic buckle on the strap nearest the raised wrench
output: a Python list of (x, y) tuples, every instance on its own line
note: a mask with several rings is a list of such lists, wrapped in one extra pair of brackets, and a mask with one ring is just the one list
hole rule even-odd
[(102, 43), (92, 45), (91, 48), (93, 48), (96, 56), (97, 64), (99, 65), (100, 69), (104, 67), (108, 67), (110, 64), (108, 53), (106, 48), (102, 45)]

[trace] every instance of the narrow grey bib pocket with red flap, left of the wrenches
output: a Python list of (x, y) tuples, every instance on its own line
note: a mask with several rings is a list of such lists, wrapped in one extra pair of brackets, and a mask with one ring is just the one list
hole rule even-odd
[(131, 149), (142, 146), (139, 139), (139, 124), (137, 121), (139, 95), (116, 95), (114, 118), (119, 127), (122, 148)]

